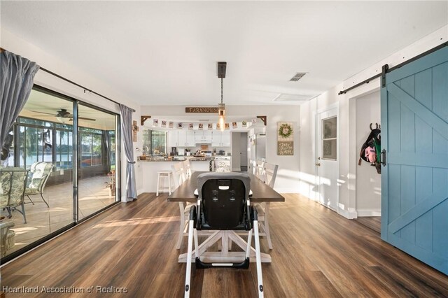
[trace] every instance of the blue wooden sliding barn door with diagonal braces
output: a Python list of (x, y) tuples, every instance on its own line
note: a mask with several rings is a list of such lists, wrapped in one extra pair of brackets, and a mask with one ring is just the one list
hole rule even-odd
[(448, 47), (386, 73), (381, 239), (448, 274)]

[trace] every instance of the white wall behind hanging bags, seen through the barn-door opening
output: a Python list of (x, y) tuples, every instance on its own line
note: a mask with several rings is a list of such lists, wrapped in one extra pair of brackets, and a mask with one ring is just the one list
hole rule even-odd
[[(374, 92), (359, 97), (356, 105), (356, 152), (360, 152), (365, 139), (375, 124), (381, 124), (380, 94)], [(370, 163), (362, 161), (356, 166), (356, 211), (358, 216), (381, 215), (381, 175)]]

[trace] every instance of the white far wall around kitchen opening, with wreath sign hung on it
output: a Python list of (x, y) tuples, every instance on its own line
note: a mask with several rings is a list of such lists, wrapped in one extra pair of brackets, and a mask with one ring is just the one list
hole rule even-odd
[[(300, 106), (225, 106), (227, 115), (267, 116), (266, 126), (266, 160), (278, 164), (279, 170), (274, 189), (277, 192), (298, 192), (300, 170), (299, 127)], [(176, 116), (187, 115), (185, 106), (142, 106), (141, 115)], [(210, 114), (207, 114), (210, 115)], [(258, 119), (258, 121), (261, 121)], [(277, 155), (276, 129), (277, 122), (295, 122), (294, 125), (294, 155)]]

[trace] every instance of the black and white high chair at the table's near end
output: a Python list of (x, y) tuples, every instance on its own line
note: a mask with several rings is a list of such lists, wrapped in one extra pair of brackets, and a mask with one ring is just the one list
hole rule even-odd
[[(197, 176), (199, 197), (197, 206), (190, 209), (188, 222), (188, 253), (186, 269), (185, 297), (190, 297), (191, 260), (193, 257), (193, 238), (195, 240), (197, 269), (212, 267), (232, 267), (247, 269), (251, 252), (252, 229), (255, 234), (255, 262), (257, 267), (258, 296), (263, 297), (260, 239), (258, 238), (258, 213), (251, 208), (249, 191), (251, 178), (246, 173), (202, 173)], [(225, 232), (248, 231), (244, 260), (232, 263), (202, 262), (197, 240), (197, 231), (218, 230)], [(216, 239), (219, 240), (218, 238)]]

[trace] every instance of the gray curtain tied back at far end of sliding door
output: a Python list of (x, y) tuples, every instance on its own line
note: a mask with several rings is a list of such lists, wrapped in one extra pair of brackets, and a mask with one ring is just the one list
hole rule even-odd
[(137, 199), (137, 186), (135, 185), (134, 148), (132, 146), (132, 108), (120, 104), (121, 136), (127, 159), (126, 164), (126, 201)]

